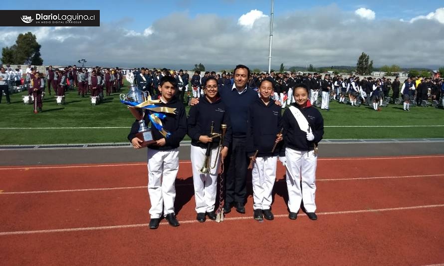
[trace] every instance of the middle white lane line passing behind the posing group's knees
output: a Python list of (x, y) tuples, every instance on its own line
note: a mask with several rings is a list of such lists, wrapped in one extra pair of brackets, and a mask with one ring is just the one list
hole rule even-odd
[[(325, 178), (316, 179), (318, 182), (322, 181), (347, 181), (347, 180), (372, 180), (372, 179), (397, 179), (397, 178), (424, 178), (424, 177), (441, 177), (444, 174), (435, 175), (416, 175), (416, 176), (380, 176), (380, 177), (353, 177), (353, 178)], [(279, 180), (276, 183), (284, 183), (285, 180)], [(247, 182), (251, 184), (251, 182)], [(193, 186), (193, 183), (187, 184), (176, 184), (176, 187), (186, 187)], [(17, 191), (17, 192), (2, 192), (1, 195), (15, 195), (15, 194), (44, 194), (44, 193), (60, 193), (60, 192), (85, 192), (85, 191), (107, 191), (107, 190), (125, 190), (125, 189), (148, 189), (148, 186), (137, 186), (137, 187), (116, 187), (116, 188), (93, 188), (93, 189), (66, 189), (66, 190), (45, 190), (45, 191)]]

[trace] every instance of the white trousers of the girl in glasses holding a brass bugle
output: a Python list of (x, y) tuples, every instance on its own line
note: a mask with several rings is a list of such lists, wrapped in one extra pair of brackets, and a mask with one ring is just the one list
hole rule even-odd
[[(218, 148), (214, 148), (211, 151), (210, 157), (210, 173), (203, 174), (199, 170), (201, 170), (204, 165), (206, 152), (207, 149), (191, 145), (191, 165), (193, 168), (194, 196), (197, 213), (212, 212), (215, 210), (218, 188), (218, 168), (221, 157), (217, 156)], [(218, 164), (214, 169), (211, 169), (215, 164), (216, 157), (219, 158)]]

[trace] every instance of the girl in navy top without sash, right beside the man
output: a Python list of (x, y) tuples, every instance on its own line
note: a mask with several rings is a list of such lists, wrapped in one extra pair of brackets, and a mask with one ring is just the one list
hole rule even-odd
[(253, 218), (257, 221), (273, 220), (271, 213), (271, 191), (276, 180), (277, 156), (282, 140), (281, 107), (270, 96), (273, 84), (262, 80), (259, 84), (259, 98), (248, 109), (246, 152), (253, 162)]

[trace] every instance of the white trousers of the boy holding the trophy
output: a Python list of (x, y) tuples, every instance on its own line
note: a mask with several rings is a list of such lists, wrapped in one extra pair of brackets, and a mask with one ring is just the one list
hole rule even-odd
[(148, 194), (150, 195), (151, 218), (160, 218), (174, 213), (176, 181), (179, 170), (179, 150), (166, 151), (148, 148)]

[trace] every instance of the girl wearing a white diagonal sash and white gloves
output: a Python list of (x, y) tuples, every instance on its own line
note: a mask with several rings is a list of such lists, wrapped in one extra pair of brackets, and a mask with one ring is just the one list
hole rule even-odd
[(282, 116), (285, 157), (279, 157), (286, 166), (288, 218), (297, 218), (302, 201), (308, 218), (316, 220), (316, 147), (324, 135), (324, 119), (308, 101), (305, 84), (296, 85), (293, 96), (296, 102)]

